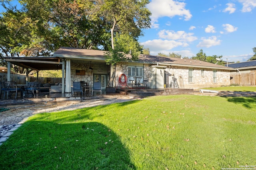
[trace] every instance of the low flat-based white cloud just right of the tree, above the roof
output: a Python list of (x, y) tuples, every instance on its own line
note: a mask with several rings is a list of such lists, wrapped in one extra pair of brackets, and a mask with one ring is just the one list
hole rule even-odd
[(141, 43), (145, 48), (150, 49), (150, 53), (160, 53), (163, 50), (171, 50), (178, 46), (186, 47), (187, 43), (182, 43), (174, 40), (162, 40), (162, 39), (153, 39)]

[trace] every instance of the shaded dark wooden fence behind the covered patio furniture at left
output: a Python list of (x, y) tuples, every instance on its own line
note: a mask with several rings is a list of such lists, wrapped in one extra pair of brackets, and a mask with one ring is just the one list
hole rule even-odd
[[(11, 74), (11, 81), (17, 84), (26, 84), (26, 76), (20, 74)], [(29, 77), (30, 82), (41, 82), (41, 83), (58, 83), (62, 82), (62, 78), (52, 78), (52, 77)], [(0, 82), (7, 81), (7, 73), (0, 73)]]

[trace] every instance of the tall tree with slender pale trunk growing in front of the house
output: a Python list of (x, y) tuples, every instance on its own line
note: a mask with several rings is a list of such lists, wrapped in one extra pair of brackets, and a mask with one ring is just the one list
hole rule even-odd
[[(146, 8), (149, 0), (85, 0), (84, 2), (90, 6), (92, 18), (102, 18), (112, 25), (110, 28), (112, 49), (106, 54), (106, 63), (113, 66), (110, 78), (110, 86), (113, 86), (116, 63), (124, 59), (122, 52), (128, 54), (127, 52), (131, 51), (131, 59), (134, 60), (139, 55), (137, 52), (141, 51), (136, 41), (142, 35), (141, 29), (150, 27), (151, 13)], [(121, 40), (123, 38), (128, 40), (128, 45)], [(130, 46), (131, 44), (134, 45)], [(133, 47), (137, 48), (133, 49)]]

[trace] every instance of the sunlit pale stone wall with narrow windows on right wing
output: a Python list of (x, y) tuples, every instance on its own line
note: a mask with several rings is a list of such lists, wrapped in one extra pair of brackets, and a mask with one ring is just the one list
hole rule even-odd
[(184, 84), (184, 88), (204, 88), (230, 85), (230, 72), (228, 70), (217, 70), (216, 83), (213, 82), (213, 69), (204, 68), (204, 75), (202, 76), (201, 68), (193, 68), (193, 82), (188, 81), (188, 72), (187, 67), (172, 66), (172, 68), (166, 68), (166, 73), (174, 74), (178, 85), (181, 86)]

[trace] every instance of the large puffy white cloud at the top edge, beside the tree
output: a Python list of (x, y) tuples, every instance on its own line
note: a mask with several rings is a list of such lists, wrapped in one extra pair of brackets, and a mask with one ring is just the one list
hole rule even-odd
[(152, 0), (147, 8), (152, 13), (152, 24), (158, 22), (161, 17), (182, 16), (184, 20), (190, 20), (192, 15), (189, 10), (186, 10), (184, 2), (174, 0)]

